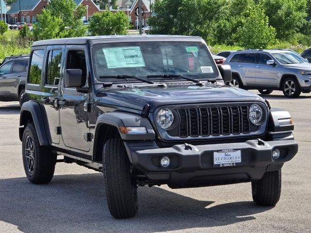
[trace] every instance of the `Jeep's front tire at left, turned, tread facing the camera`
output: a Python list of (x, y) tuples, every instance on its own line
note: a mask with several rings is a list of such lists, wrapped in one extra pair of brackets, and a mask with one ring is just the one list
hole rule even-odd
[(137, 186), (132, 182), (130, 162), (121, 138), (106, 141), (103, 169), (110, 214), (115, 218), (135, 216), (138, 211)]

